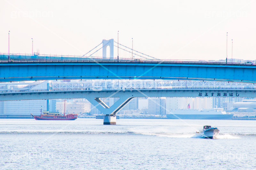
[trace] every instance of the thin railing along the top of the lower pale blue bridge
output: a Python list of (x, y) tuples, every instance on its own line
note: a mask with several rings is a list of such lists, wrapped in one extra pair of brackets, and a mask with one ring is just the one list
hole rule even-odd
[(117, 90), (117, 91), (133, 91), (133, 90), (256, 90), (256, 87), (141, 87), (141, 88), (84, 88), (84, 89), (38, 89), (38, 90), (3, 90), (0, 93), (22, 93), (22, 92), (61, 92), (61, 91), (107, 91), (107, 90)]

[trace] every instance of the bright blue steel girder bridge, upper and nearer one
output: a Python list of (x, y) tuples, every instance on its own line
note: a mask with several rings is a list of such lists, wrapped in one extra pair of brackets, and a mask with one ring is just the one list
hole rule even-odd
[(119, 59), (6, 59), (0, 82), (58, 79), (169, 79), (255, 83), (256, 65), (244, 63)]

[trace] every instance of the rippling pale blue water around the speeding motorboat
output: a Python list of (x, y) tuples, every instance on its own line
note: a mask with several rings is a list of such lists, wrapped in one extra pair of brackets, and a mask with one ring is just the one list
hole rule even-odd
[[(204, 125), (219, 139), (190, 138)], [(0, 119), (0, 169), (256, 169), (256, 122)]]

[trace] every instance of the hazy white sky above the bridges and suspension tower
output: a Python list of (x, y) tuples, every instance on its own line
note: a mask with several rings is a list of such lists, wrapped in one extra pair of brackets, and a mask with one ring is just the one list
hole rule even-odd
[[(0, 52), (84, 55), (102, 39), (159, 59), (256, 59), (256, 1), (0, 0)], [(130, 57), (119, 50), (119, 56)], [(99, 51), (95, 56), (101, 56)], [(116, 48), (114, 51), (116, 56)]]

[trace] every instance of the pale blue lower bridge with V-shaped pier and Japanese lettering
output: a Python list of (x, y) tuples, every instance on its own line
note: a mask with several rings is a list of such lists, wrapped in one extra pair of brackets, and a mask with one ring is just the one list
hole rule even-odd
[[(0, 92), (0, 101), (40, 100), (40, 99), (77, 99), (85, 98), (106, 115), (116, 115), (135, 97), (256, 97), (256, 87), (173, 87), (173, 88), (106, 88), (106, 89), (40, 89), (6, 90)], [(112, 105), (103, 102), (104, 98), (118, 98)]]

